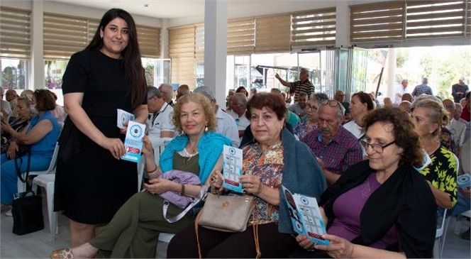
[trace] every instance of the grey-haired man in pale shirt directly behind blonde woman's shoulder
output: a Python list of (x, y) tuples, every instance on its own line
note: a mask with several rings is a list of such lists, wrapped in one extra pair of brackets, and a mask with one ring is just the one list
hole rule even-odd
[(238, 148), (240, 145), (239, 133), (237, 130), (237, 124), (231, 115), (227, 114), (216, 104), (216, 97), (214, 97), (213, 91), (209, 87), (196, 87), (193, 90), (194, 93), (203, 94), (206, 98), (211, 101), (211, 105), (214, 107), (214, 113), (218, 120), (218, 133), (232, 140), (232, 146)]

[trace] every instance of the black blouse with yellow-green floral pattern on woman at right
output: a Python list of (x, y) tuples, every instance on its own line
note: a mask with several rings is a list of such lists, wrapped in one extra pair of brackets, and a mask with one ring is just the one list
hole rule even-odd
[(456, 156), (443, 145), (430, 155), (431, 162), (421, 170), (421, 174), (433, 187), (450, 194), (451, 206), (455, 206), (456, 177), (458, 166)]

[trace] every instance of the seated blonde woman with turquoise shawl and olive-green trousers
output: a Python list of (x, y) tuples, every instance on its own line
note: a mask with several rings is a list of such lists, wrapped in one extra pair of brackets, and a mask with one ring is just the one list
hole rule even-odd
[[(128, 199), (104, 230), (89, 243), (74, 248), (55, 250), (51, 258), (93, 258), (100, 252), (111, 252), (111, 258), (155, 258), (157, 239), (160, 232), (176, 233), (192, 225), (191, 212), (170, 224), (162, 213), (164, 200), (157, 194), (177, 192), (187, 197), (198, 197), (201, 189), (209, 187), (209, 175), (221, 170), (223, 145), (231, 140), (216, 131), (214, 109), (201, 94), (187, 94), (178, 99), (174, 106), (173, 123), (184, 134), (174, 138), (160, 155), (160, 167), (155, 165), (152, 143), (145, 137), (143, 153), (145, 170), (150, 178), (144, 184), (148, 192), (139, 192)], [(199, 175), (203, 186), (179, 184), (157, 178), (170, 170), (182, 170)], [(169, 204), (167, 218), (180, 214), (180, 209)]]

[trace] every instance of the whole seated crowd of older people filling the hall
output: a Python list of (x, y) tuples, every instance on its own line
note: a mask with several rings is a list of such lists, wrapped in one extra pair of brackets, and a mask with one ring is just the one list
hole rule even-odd
[[(148, 87), (145, 192), (128, 199), (91, 241), (51, 257), (155, 258), (158, 236), (167, 232), (176, 233), (167, 258), (431, 258), (437, 211), (456, 215), (470, 209), (470, 190), (456, 183), (458, 158), (470, 141), (470, 92), (464, 104), (403, 93), (381, 106), (375, 94), (365, 92), (350, 101), (342, 91), (335, 99), (301, 92), (292, 105), (282, 94), (238, 87), (223, 109), (209, 87), (190, 91), (182, 85), (175, 100), (169, 84)], [(65, 119), (47, 90), (11, 100), (10, 122), (1, 120), (2, 210), (16, 192), (19, 146), (31, 145), (31, 170), (44, 170), (60, 133), (57, 121)], [(162, 214), (165, 200), (157, 194), (231, 194), (222, 187), (223, 145), (243, 150), (240, 183), (256, 206), (247, 229), (196, 231), (194, 210), (169, 223)], [(192, 172), (201, 184), (159, 177), (172, 170)], [(321, 238), (330, 245), (294, 235), (281, 185), (316, 197), (326, 223)], [(167, 214), (182, 211), (170, 204)]]

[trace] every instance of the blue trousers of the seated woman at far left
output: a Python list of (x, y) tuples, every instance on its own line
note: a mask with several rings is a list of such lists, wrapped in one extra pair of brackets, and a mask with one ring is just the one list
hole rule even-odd
[[(28, 155), (21, 157), (23, 162), (20, 164), (18, 159), (18, 165), (20, 171), (23, 174), (26, 172), (26, 166), (28, 165)], [(43, 171), (47, 170), (52, 159), (51, 155), (31, 155), (30, 160), (30, 171)], [(1, 155), (1, 203), (11, 204), (13, 201), (13, 194), (18, 192), (18, 175), (16, 174), (15, 160), (9, 159), (5, 154)]]

